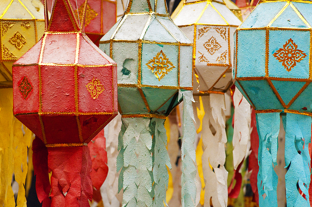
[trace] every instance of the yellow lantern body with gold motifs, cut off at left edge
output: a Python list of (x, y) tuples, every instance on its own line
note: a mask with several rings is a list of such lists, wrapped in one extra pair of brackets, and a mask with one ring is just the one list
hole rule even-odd
[(39, 0), (3, 0), (0, 3), (0, 88), (12, 88), (12, 64), (41, 38), (43, 5)]

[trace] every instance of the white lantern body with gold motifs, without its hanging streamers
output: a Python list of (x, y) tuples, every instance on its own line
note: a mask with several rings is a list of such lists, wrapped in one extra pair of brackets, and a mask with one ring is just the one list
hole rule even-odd
[(227, 91), (232, 85), (232, 34), (241, 21), (222, 0), (186, 1), (173, 21), (194, 42), (194, 93)]

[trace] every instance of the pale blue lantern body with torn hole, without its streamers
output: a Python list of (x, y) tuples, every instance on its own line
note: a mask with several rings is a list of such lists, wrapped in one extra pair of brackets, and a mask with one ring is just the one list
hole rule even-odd
[(192, 43), (166, 8), (164, 1), (156, 6), (130, 1), (100, 41), (100, 49), (117, 63), (123, 115), (168, 115), (178, 104), (178, 90), (192, 90)]

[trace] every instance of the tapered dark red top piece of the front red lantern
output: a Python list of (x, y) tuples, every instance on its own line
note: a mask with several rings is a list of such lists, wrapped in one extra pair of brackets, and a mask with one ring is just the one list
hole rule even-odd
[(80, 27), (69, 0), (55, 0), (47, 31), (68, 32), (79, 30)]

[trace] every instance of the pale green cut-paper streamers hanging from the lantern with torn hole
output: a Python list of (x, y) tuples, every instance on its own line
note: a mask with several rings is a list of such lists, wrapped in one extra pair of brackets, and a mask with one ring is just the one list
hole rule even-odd
[[(192, 91), (180, 92), (179, 95), (183, 95), (182, 206), (195, 206), (195, 128), (191, 105), (193, 95)], [(164, 119), (122, 118), (118, 140), (118, 190), (124, 190), (122, 206), (168, 205), (167, 166), (171, 168), (171, 164), (166, 149)]]

